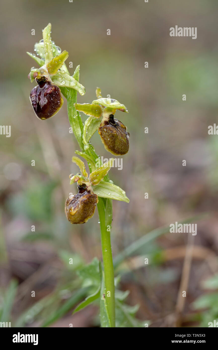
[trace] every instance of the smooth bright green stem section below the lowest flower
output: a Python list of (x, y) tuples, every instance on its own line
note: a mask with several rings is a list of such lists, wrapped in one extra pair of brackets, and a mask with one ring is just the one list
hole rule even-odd
[[(98, 214), (101, 229), (101, 250), (103, 256), (104, 278), (105, 278), (105, 300), (111, 327), (115, 327), (115, 288), (113, 257), (111, 250), (111, 234), (107, 231), (105, 208), (102, 198), (98, 198)], [(110, 293), (108, 293), (110, 292)]]

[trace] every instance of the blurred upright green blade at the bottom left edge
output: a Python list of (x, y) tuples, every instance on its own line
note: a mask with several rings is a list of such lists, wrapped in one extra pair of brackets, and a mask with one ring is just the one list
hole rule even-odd
[(15, 295), (17, 291), (17, 281), (12, 280), (7, 288), (7, 292), (3, 296), (2, 310), (0, 315), (0, 322), (11, 321), (11, 309), (14, 303)]

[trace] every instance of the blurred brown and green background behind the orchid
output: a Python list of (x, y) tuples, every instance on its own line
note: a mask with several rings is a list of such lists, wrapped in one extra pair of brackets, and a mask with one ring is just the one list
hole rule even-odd
[[(46, 122), (29, 101), (34, 84), (27, 76), (37, 64), (26, 51), (34, 52), (48, 22), (52, 40), (69, 51), (70, 73), (80, 64), (86, 94), (78, 102), (91, 103), (99, 86), (129, 111), (116, 118), (127, 126), (130, 149), (122, 170), (110, 171), (130, 198), (129, 204), (113, 201), (114, 257), (156, 228), (198, 216), (193, 241), (164, 229), (117, 265), (120, 289), (130, 290), (127, 303), (139, 304), (137, 317), (150, 327), (208, 327), (218, 318), (218, 139), (208, 135), (217, 122), (217, 11), (216, 0), (1, 2), (0, 124), (11, 125), (10, 138), (0, 135), (1, 321), (12, 327), (99, 325), (95, 305), (71, 315), (85, 296), (76, 270), (94, 256), (101, 259), (101, 245), (97, 211), (75, 227), (64, 215), (66, 198), (76, 193), (69, 174), (78, 171), (66, 101)], [(175, 25), (197, 27), (197, 39), (170, 37)], [(99, 155), (110, 157), (98, 133), (91, 141)], [(192, 261), (181, 306), (187, 244), (193, 245)]]

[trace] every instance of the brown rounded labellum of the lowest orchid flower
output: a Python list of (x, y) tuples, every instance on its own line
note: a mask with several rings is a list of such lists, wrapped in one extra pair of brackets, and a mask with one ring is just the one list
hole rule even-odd
[(77, 195), (66, 200), (65, 214), (71, 224), (84, 224), (94, 215), (98, 196), (88, 191), (85, 184), (77, 187)]

